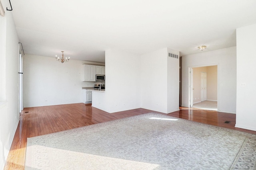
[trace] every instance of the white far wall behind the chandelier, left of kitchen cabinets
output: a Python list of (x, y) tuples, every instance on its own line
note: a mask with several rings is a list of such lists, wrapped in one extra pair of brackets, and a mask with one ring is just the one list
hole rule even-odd
[(98, 82), (82, 82), (83, 65), (97, 64), (70, 59), (59, 63), (54, 57), (25, 55), (23, 58), (24, 107), (82, 102), (82, 87)]

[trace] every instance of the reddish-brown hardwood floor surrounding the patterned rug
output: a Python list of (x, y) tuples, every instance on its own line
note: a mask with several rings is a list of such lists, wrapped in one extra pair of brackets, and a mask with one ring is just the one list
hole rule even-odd
[[(4, 169), (24, 169), (26, 141), (28, 137), (45, 135), (150, 112), (159, 113), (147, 109), (132, 109), (107, 113), (91, 107), (91, 105), (82, 103), (24, 108), (20, 115), (20, 123), (18, 124)], [(256, 131), (235, 128), (235, 114), (180, 107), (180, 111), (167, 115), (256, 134)], [(230, 121), (230, 123), (224, 123), (225, 121)]]

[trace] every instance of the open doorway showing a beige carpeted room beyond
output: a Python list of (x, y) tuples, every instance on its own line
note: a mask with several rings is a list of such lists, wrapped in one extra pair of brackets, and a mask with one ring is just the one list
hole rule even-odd
[(188, 77), (189, 106), (218, 110), (218, 64), (191, 67)]

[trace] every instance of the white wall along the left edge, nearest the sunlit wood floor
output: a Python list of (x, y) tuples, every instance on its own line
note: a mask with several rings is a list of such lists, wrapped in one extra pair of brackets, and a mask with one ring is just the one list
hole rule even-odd
[[(2, 5), (6, 9), (6, 1)], [(3, 169), (19, 121), (19, 41), (11, 12), (5, 11), (5, 16), (0, 16), (0, 31), (0, 169)]]

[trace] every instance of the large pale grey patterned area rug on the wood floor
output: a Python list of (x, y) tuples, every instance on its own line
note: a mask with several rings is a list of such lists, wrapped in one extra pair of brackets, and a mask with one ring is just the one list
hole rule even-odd
[(256, 135), (148, 113), (28, 138), (25, 169), (255, 170)]

